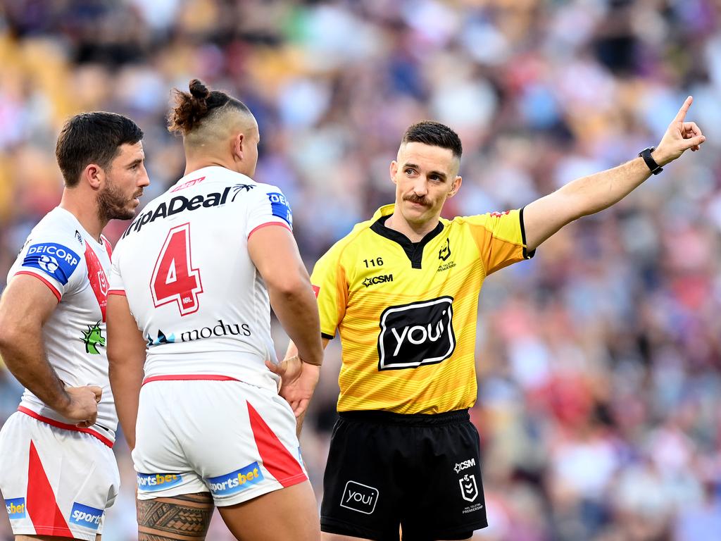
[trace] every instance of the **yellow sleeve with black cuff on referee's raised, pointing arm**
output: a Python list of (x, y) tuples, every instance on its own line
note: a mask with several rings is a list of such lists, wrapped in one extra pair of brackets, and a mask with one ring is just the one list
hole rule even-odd
[(471, 226), (486, 275), (534, 256), (535, 250), (526, 250), (523, 208), (466, 216), (463, 220)]

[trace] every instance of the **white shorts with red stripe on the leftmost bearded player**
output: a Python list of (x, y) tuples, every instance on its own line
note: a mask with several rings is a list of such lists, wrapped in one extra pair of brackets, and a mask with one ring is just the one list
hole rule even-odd
[(102, 533), (120, 474), (99, 439), (10, 415), (0, 431), (0, 490), (15, 535), (94, 541)]

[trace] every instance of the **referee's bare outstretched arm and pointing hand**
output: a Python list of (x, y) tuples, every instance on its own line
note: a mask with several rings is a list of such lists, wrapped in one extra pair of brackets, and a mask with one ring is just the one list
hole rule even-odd
[[(693, 98), (687, 97), (651, 154), (661, 167), (673, 162), (688, 149), (698, 150), (706, 140), (696, 123), (686, 122), (691, 102)], [(618, 203), (650, 175), (644, 160), (637, 157), (619, 167), (572, 180), (554, 193), (528, 204), (523, 209), (528, 250), (535, 250), (571, 221)]]

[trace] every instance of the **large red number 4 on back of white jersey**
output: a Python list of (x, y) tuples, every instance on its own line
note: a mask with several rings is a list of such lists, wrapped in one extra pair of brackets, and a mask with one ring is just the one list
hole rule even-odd
[(168, 232), (150, 278), (153, 304), (177, 301), (180, 315), (198, 311), (198, 294), (203, 293), (200, 271), (190, 262), (190, 224), (173, 227)]

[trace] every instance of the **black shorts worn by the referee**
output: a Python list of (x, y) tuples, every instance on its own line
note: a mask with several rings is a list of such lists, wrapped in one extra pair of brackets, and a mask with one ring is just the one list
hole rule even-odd
[(479, 437), (467, 410), (340, 413), (321, 529), (376, 541), (467, 539), (485, 528)]

